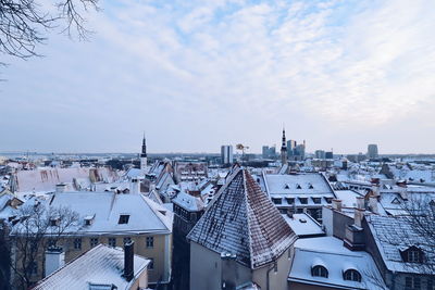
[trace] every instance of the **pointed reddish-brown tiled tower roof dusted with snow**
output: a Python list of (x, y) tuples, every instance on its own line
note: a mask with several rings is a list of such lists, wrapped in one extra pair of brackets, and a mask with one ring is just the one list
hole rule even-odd
[(187, 238), (257, 268), (277, 259), (296, 235), (252, 176), (237, 168)]

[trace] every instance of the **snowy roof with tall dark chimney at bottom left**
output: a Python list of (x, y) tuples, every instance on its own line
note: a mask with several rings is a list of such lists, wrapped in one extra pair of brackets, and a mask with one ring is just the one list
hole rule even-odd
[(147, 269), (150, 260), (134, 255), (135, 278), (127, 281), (122, 276), (124, 251), (121, 248), (99, 244), (39, 281), (33, 289), (85, 290), (90, 289), (90, 285), (113, 285), (120, 290), (130, 289), (135, 280)]

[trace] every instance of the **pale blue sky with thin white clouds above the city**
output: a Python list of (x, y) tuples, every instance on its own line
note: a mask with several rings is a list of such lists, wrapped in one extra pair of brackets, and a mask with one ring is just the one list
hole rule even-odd
[(116, 0), (0, 68), (0, 151), (435, 153), (435, 1)]

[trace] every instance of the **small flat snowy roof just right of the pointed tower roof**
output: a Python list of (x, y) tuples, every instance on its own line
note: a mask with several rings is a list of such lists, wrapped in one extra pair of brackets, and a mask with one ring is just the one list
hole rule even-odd
[(322, 226), (309, 214), (294, 214), (293, 217), (289, 217), (287, 214), (283, 214), (282, 216), (299, 238), (304, 236), (325, 235)]

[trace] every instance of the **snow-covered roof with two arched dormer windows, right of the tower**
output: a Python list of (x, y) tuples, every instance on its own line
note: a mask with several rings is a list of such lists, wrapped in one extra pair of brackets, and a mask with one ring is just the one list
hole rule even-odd
[[(311, 268), (322, 265), (327, 278), (313, 277)], [(344, 279), (344, 272), (352, 268), (362, 276), (361, 282)], [(295, 243), (295, 259), (288, 275), (289, 281), (332, 289), (387, 289), (372, 256), (363, 251), (350, 251), (343, 240), (334, 237), (299, 239)]]

